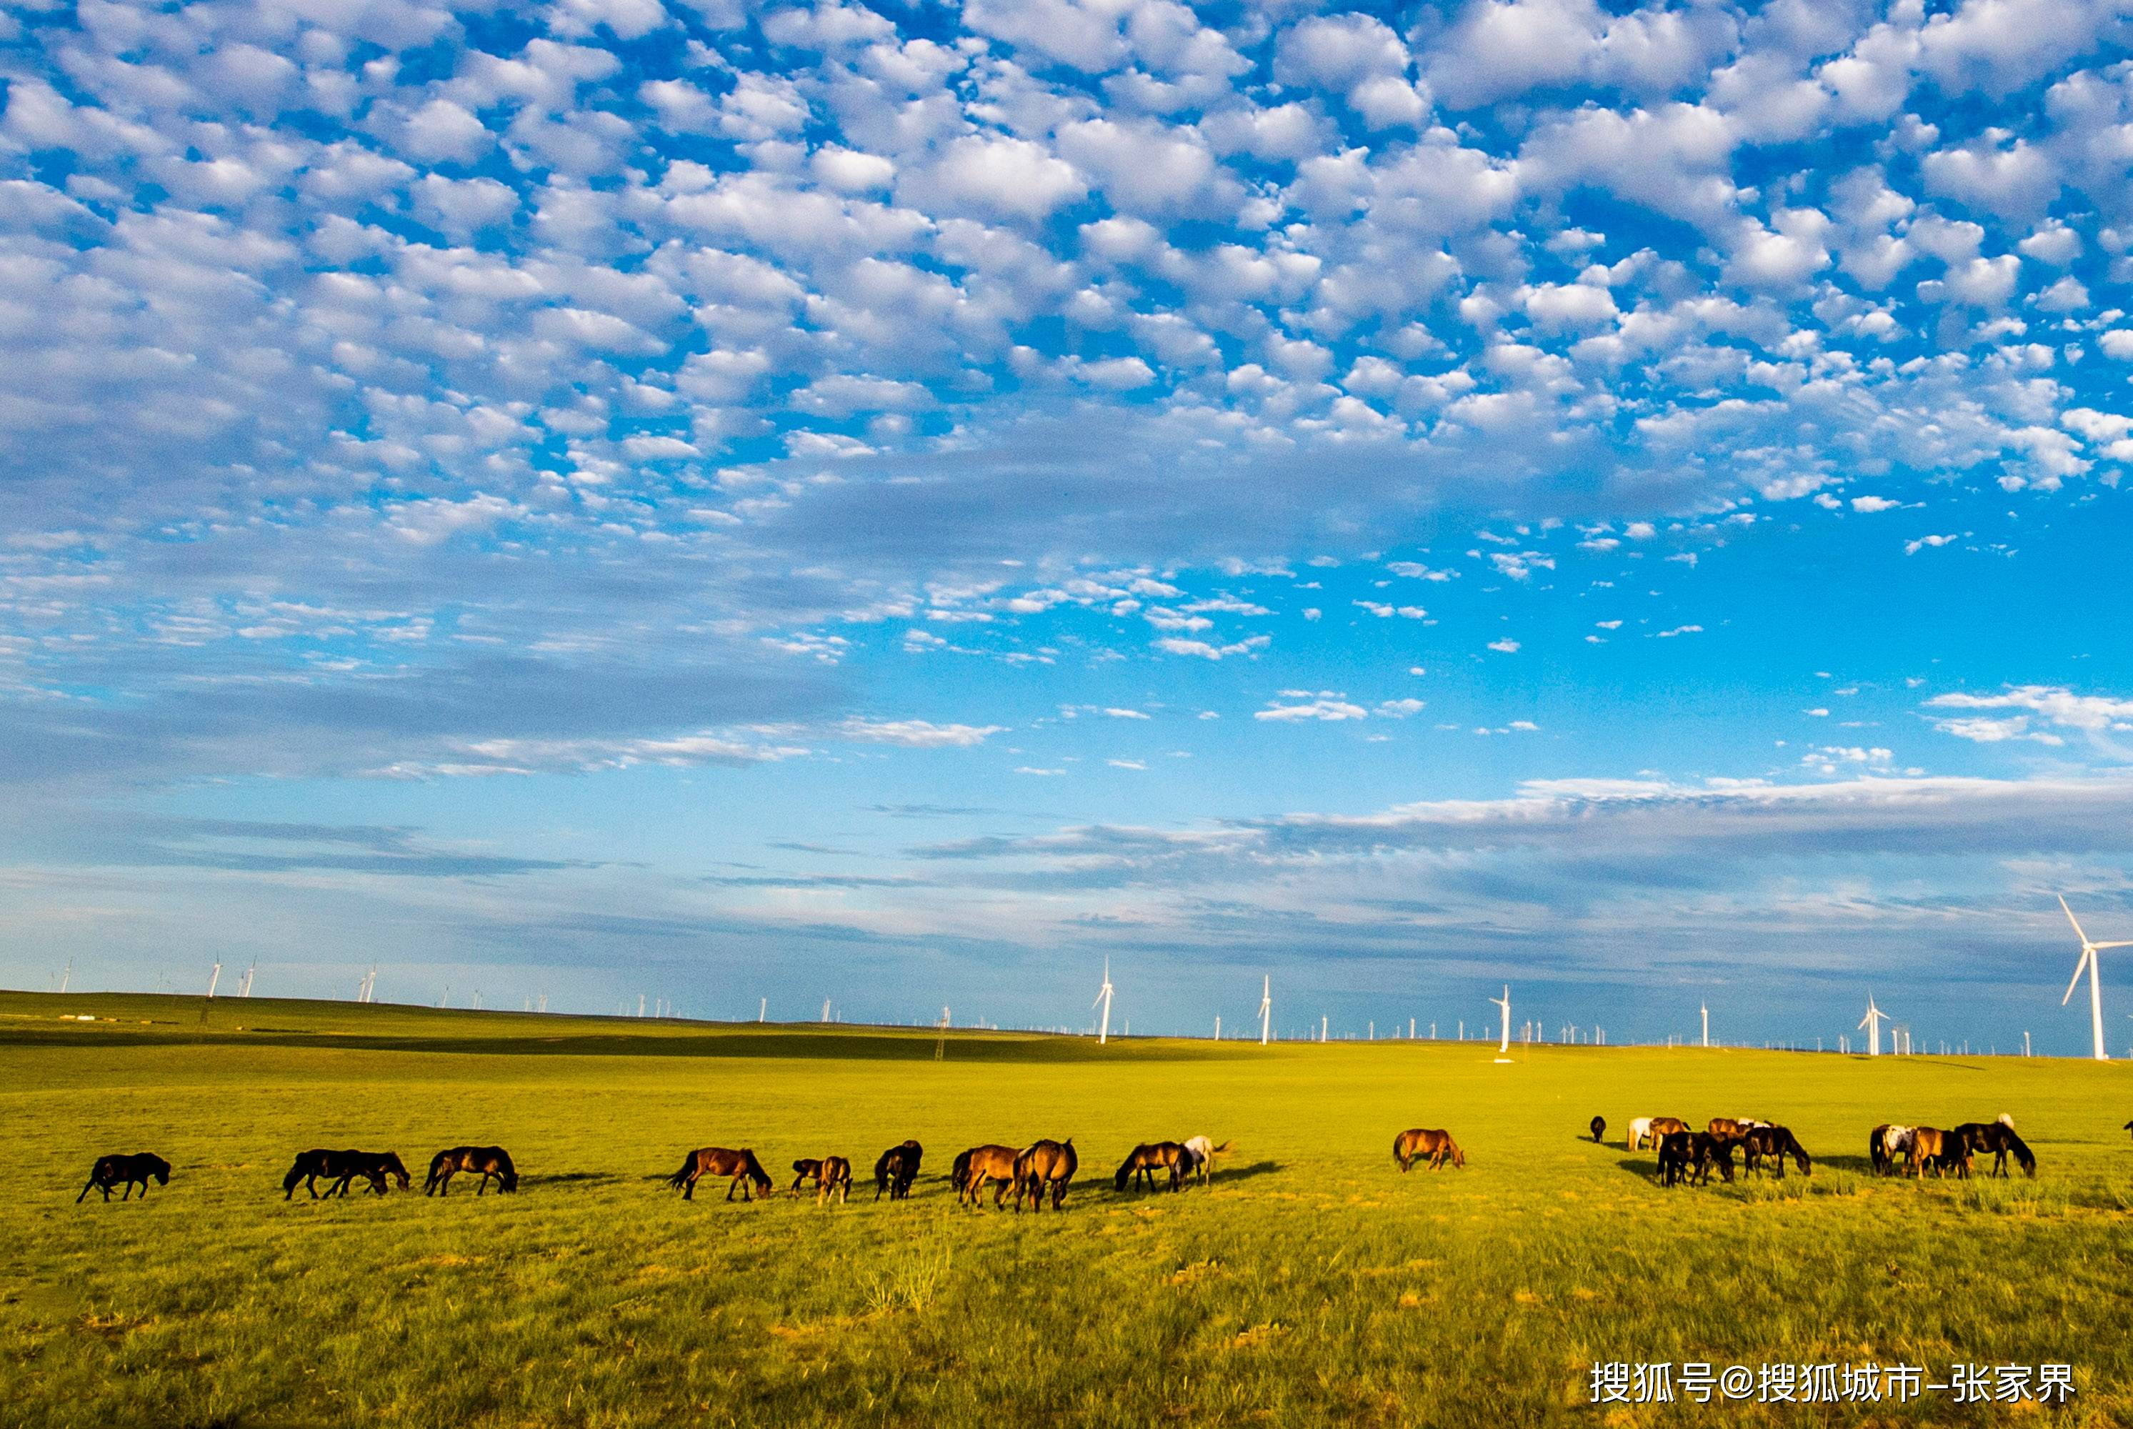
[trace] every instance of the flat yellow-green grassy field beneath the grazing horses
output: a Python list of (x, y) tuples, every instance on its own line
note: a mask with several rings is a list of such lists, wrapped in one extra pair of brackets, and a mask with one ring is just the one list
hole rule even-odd
[[(2127, 1071), (1491, 1056), (953, 1034), (934, 1062), (932, 1034), (0, 994), (0, 1420), (2133, 1423)], [(1875, 1122), (2001, 1111), (2035, 1182), (1866, 1175)], [(1621, 1143), (1640, 1113), (1785, 1122), (1815, 1175), (1662, 1190)], [(1404, 1126), (1468, 1169), (1399, 1175)], [(1212, 1192), (1111, 1190), (1135, 1141), (1192, 1133), (1237, 1143)], [(956, 1150), (1047, 1135), (1084, 1158), (1066, 1214), (953, 1205)], [(902, 1137), (904, 1205), (661, 1184), (695, 1145), (864, 1177)], [(467, 1141), (510, 1147), (518, 1197), (422, 1199)], [(309, 1145), (392, 1147), (416, 1194), (284, 1203)], [(113, 1150), (171, 1186), (77, 1207)], [(1595, 1361), (2065, 1361), (2078, 1393), (1591, 1408)]]

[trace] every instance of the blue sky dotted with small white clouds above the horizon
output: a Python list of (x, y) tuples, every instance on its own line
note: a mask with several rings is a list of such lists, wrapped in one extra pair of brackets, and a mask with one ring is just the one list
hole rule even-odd
[(13, 6), (0, 979), (2078, 1049), (2129, 9)]

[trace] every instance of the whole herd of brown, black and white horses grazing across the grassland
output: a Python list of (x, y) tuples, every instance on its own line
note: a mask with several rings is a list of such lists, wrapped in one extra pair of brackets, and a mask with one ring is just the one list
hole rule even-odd
[[(1595, 1115), (1589, 1130), (1593, 1143), (1598, 1143), (1606, 1135), (1606, 1118)], [(2133, 1130), (2133, 1122), (2127, 1122), (2127, 1130)], [(1798, 1167), (1800, 1175), (1813, 1175), (1815, 1171), (1813, 1158), (1790, 1128), (1747, 1115), (1715, 1115), (1704, 1124), (1704, 1130), (1691, 1130), (1687, 1122), (1674, 1115), (1640, 1115), (1630, 1122), (1625, 1145), (1632, 1152), (1647, 1145), (1657, 1150), (1657, 1177), (1662, 1186), (1706, 1186), (1713, 1171), (1721, 1179), (1732, 1182), (1734, 1152), (1741, 1152), (1743, 1173), (1747, 1175), (1768, 1169), (1768, 1173), (1783, 1177), (1787, 1158)], [(1214, 1158), (1229, 1150), (1229, 1141), (1216, 1145), (1209, 1137), (1143, 1141), (1120, 1162), (1111, 1177), (1111, 1188), (1122, 1194), (1128, 1186), (1133, 1190), (1156, 1190), (1158, 1179), (1165, 1177), (1167, 1190), (1173, 1192), (1192, 1179), (1207, 1186)], [(2007, 1113), (2001, 1113), (1992, 1122), (1964, 1122), (1945, 1130), (1939, 1126), (1898, 1126), (1886, 1122), (1866, 1135), (1866, 1154), (1875, 1175), (1924, 1177), (1930, 1167), (1937, 1177), (1954, 1175), (1967, 1179), (1973, 1160), (1984, 1154), (1992, 1156), (1988, 1175), (2007, 1175), (2009, 1156), (2022, 1167), (2022, 1175), (2037, 1175), (2037, 1156), (2016, 1135), (2014, 1118)], [(877, 1156), (875, 1201), (881, 1201), (881, 1197), (889, 1201), (909, 1199), (924, 1156), (926, 1147), (917, 1141), (900, 1141)], [(1393, 1162), (1401, 1171), (1408, 1171), (1416, 1160), (1429, 1162), (1431, 1171), (1442, 1169), (1446, 1162), (1463, 1169), (1465, 1152), (1459, 1150), (1448, 1130), (1416, 1126), (1393, 1137)], [(1079, 1165), (1073, 1137), (1064, 1141), (1045, 1139), (1022, 1150), (985, 1143), (956, 1156), (949, 1169), (949, 1186), (956, 1190), (958, 1205), (979, 1207), (985, 1186), (992, 1186), (994, 1209), (1005, 1205), (1007, 1197), (1013, 1194), (1017, 1214), (1024, 1203), (1032, 1214), (1043, 1211), (1045, 1199), (1058, 1211), (1066, 1205), (1066, 1186), (1073, 1182)], [(791, 1167), (793, 1184), (787, 1194), (804, 1194), (802, 1188), (813, 1184), (815, 1205), (825, 1201), (843, 1205), (851, 1197), (851, 1162), (847, 1158), (800, 1158)], [(480, 1188), (474, 1192), (476, 1197), (488, 1192), (491, 1179), (499, 1192), (518, 1190), (518, 1169), (501, 1145), (454, 1145), (431, 1156), (422, 1194), (450, 1194), (452, 1177), (461, 1173), (482, 1177)], [(309, 1190), (314, 1201), (346, 1197), (358, 1177), (365, 1182), (365, 1190), (380, 1197), (390, 1190), (392, 1182), (399, 1182), (401, 1190), (412, 1186), (407, 1167), (392, 1152), (311, 1150), (301, 1152), (296, 1165), (282, 1177), (282, 1199), (288, 1201), (294, 1197), (296, 1186)], [(727, 1201), (734, 1199), (734, 1192), (740, 1192), (742, 1201), (753, 1201), (759, 1194), (768, 1197), (776, 1190), (776, 1184), (764, 1171), (753, 1150), (729, 1150), (723, 1145), (706, 1145), (689, 1152), (680, 1162), (680, 1171), (665, 1177), (665, 1184), (680, 1190), (683, 1201), (693, 1201), (695, 1184), (704, 1177), (727, 1182)], [(132, 1201), (134, 1186), (141, 1188), (141, 1199), (145, 1201), (149, 1182), (169, 1186), (171, 1162), (154, 1152), (98, 1156), (87, 1184), (75, 1197), (75, 1205), (81, 1205), (92, 1190), (102, 1190), (105, 1201), (109, 1201), (111, 1192), (119, 1186), (126, 1188), (119, 1197), (122, 1201)], [(318, 1182), (326, 1182), (324, 1197), (320, 1197)]]

